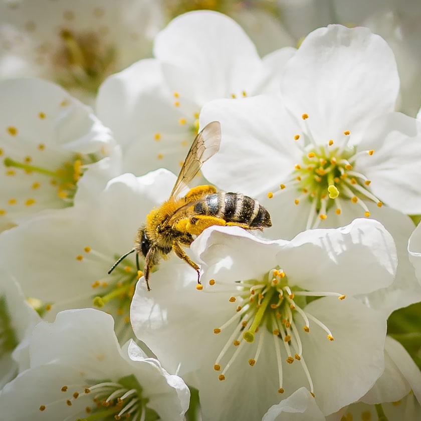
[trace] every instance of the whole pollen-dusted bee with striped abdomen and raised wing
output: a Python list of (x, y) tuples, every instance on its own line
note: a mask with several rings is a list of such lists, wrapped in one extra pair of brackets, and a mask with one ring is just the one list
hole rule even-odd
[(108, 274), (126, 256), (136, 253), (138, 269), (139, 256), (145, 259), (143, 275), (150, 291), (152, 268), (161, 258), (167, 260), (173, 250), (197, 272), (197, 283), (200, 284), (200, 268), (185, 254), (183, 247), (189, 247), (203, 230), (214, 225), (236, 226), (245, 230), (263, 230), (272, 226), (269, 212), (257, 200), (244, 194), (217, 192), (212, 185), (199, 185), (180, 196), (203, 162), (218, 152), (220, 143), (221, 125), (213, 121), (194, 139), (169, 199), (151, 210), (145, 225), (137, 231), (133, 249), (121, 256)]

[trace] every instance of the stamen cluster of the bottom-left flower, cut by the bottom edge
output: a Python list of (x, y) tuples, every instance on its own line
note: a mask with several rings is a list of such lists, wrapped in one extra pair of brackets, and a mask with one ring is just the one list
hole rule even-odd
[[(134, 375), (122, 377), (117, 382), (102, 381), (92, 385), (64, 385), (60, 389), (63, 397), (49, 404), (42, 404), (39, 410), (57, 410), (57, 404), (63, 402), (66, 406), (75, 407), (75, 411), (66, 418), (76, 421), (94, 421), (103, 419), (153, 420), (158, 414), (146, 407), (149, 399), (142, 396), (142, 386)], [(81, 409), (80, 401), (86, 401)], [(77, 417), (79, 415), (79, 417)], [(77, 418), (75, 418), (77, 417)]]

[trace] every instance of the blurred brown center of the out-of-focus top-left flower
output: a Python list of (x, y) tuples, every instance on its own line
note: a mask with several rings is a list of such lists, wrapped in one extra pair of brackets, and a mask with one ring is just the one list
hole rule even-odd
[(57, 82), (67, 89), (83, 88), (96, 93), (115, 69), (116, 52), (94, 32), (62, 30), (61, 46), (52, 56)]

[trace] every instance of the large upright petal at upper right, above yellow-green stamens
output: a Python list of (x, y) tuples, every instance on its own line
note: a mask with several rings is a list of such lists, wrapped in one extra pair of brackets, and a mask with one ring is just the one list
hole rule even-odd
[(296, 117), (307, 113), (317, 142), (358, 132), (392, 111), (399, 89), (393, 53), (366, 28), (330, 25), (310, 33), (288, 62), (281, 90)]

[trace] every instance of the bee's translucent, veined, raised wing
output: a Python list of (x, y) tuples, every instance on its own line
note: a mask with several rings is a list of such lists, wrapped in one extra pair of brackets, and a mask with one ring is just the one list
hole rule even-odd
[(220, 143), (221, 124), (219, 121), (212, 121), (194, 139), (170, 197), (179, 196), (180, 192), (197, 174), (202, 163), (218, 152)]

